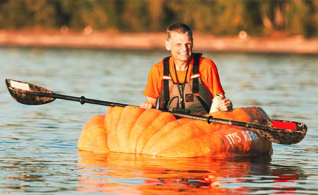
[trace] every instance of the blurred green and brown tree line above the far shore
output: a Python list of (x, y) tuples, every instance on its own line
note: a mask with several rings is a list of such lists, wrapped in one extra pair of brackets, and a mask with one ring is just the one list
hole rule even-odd
[(172, 23), (215, 35), (318, 37), (318, 0), (0, 0), (0, 29), (163, 32)]

